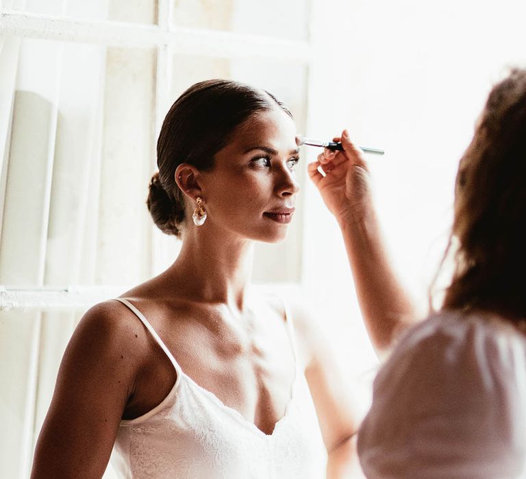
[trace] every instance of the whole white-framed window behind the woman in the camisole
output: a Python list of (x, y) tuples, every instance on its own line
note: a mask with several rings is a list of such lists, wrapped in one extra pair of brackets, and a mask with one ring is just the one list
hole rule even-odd
[[(177, 256), (145, 206), (171, 103), (195, 81), (235, 78), (277, 94), (304, 127), (309, 10), (307, 0), (0, 6), (0, 475), (25, 478), (79, 317)], [(301, 229), (258, 246), (255, 281), (300, 281)]]

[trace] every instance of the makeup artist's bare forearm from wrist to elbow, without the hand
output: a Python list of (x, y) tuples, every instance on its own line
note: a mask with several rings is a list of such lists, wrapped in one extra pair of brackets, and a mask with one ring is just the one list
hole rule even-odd
[(401, 322), (414, 322), (415, 307), (390, 263), (375, 213), (359, 222), (338, 221), (355, 282), (360, 309), (373, 346), (390, 347)]

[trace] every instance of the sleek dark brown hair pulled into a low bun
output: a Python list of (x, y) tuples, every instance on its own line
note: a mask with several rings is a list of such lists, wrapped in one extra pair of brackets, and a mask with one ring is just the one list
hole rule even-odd
[(188, 163), (210, 170), (214, 156), (231, 140), (236, 128), (258, 112), (288, 108), (266, 90), (222, 79), (190, 86), (166, 114), (157, 142), (157, 164), (149, 185), (147, 206), (155, 224), (180, 236), (185, 220), (184, 194), (175, 183), (175, 169)]

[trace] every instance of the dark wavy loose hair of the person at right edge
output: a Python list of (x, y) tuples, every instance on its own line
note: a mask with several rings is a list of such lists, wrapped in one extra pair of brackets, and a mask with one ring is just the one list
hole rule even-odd
[[(491, 90), (455, 185), (455, 271), (444, 307), (526, 318), (526, 70)], [(451, 241), (450, 241), (451, 248)]]

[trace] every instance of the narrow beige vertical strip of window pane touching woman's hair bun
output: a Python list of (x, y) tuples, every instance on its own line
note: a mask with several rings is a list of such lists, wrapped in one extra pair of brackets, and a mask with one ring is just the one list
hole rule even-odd
[(150, 275), (154, 52), (109, 49), (105, 78), (95, 283), (133, 284)]

